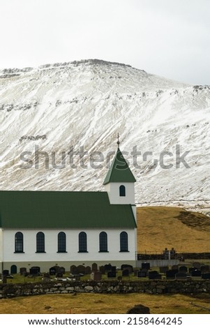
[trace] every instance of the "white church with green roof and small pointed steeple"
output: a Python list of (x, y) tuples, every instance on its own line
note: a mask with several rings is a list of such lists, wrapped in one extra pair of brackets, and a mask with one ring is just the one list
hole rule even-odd
[(0, 272), (135, 266), (135, 177), (118, 149), (105, 191), (0, 191)]

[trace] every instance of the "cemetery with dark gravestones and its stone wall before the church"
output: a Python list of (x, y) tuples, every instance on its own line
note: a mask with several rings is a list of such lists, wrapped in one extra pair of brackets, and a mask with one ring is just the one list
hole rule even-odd
[(31, 267), (27, 272), (21, 268), (19, 274), (8, 270), (1, 274), (0, 298), (43, 294), (70, 294), (75, 292), (149, 294), (197, 294), (210, 293), (210, 265), (191, 262), (165, 267), (151, 267), (149, 262), (133, 268), (122, 264), (120, 268), (105, 264), (98, 267), (55, 265), (41, 273), (40, 267)]

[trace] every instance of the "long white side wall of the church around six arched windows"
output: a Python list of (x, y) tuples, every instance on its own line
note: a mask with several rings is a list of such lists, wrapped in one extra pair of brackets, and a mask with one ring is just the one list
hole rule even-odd
[[(24, 253), (15, 253), (15, 233), (24, 235)], [(45, 253), (36, 253), (36, 234), (42, 231), (45, 234)], [(59, 232), (66, 233), (66, 252), (57, 253), (57, 236)], [(87, 233), (87, 253), (78, 253), (78, 235)], [(108, 252), (99, 252), (99, 234), (107, 232)], [(128, 252), (120, 252), (120, 238), (122, 231), (128, 233)], [(91, 230), (4, 230), (3, 231), (3, 262), (54, 262), (60, 261), (133, 261), (135, 260), (135, 230), (133, 229), (91, 229)]]

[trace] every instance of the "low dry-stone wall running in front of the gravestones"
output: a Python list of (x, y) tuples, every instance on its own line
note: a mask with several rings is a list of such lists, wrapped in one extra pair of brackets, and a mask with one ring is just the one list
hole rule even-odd
[(1, 283), (0, 298), (75, 292), (148, 294), (210, 293), (210, 280), (200, 281), (65, 281), (50, 283)]

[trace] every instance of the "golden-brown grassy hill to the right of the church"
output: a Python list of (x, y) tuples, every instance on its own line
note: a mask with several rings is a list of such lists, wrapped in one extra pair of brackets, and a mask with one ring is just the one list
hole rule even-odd
[(210, 217), (179, 207), (137, 207), (137, 252), (210, 252)]

